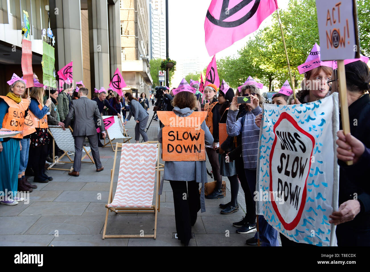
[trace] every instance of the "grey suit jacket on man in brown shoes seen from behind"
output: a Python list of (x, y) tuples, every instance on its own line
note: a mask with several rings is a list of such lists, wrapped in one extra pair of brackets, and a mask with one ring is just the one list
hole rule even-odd
[[(87, 136), (96, 134), (95, 121), (100, 119), (100, 131), (104, 132), (104, 122), (101, 118), (98, 105), (95, 101), (87, 97), (72, 100), (68, 115), (64, 120), (66, 127), (70, 124), (74, 116), (73, 136)], [(99, 120), (98, 120), (99, 123)]]

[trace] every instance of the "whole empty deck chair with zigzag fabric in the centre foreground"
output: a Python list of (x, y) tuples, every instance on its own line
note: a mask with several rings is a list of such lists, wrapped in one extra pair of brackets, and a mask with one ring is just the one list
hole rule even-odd
[[(114, 199), (113, 179), (117, 159), (118, 148), (121, 147), (120, 174), (118, 175), (117, 188)], [(132, 173), (130, 179), (124, 176), (124, 172)], [(113, 169), (111, 170), (111, 186), (109, 189), (108, 204), (105, 205), (103, 237), (105, 238), (157, 238), (157, 212), (158, 212), (158, 189), (160, 183), (159, 171), (159, 143), (145, 142), (138, 144), (116, 143)], [(155, 172), (157, 172), (157, 184), (154, 190)], [(155, 192), (155, 205), (153, 196)], [(149, 235), (107, 235), (108, 212), (118, 213), (154, 213), (154, 234)], [(132, 218), (132, 217), (130, 217)], [(130, 219), (131, 220), (131, 219)]]

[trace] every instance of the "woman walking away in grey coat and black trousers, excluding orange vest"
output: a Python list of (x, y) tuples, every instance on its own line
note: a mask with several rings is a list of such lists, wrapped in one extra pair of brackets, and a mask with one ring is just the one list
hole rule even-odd
[[(174, 113), (179, 117), (189, 116), (197, 105), (195, 95), (186, 91), (176, 94), (172, 104)], [(202, 122), (201, 128), (204, 131), (205, 144), (211, 145), (213, 137), (205, 121)], [(162, 143), (162, 128), (158, 133), (158, 141)], [(204, 143), (202, 145), (204, 146)], [(204, 182), (207, 181), (205, 164), (205, 161), (166, 161), (164, 165), (163, 179), (169, 181), (174, 195), (177, 236), (185, 246), (191, 239), (191, 226), (195, 224), (199, 209), (205, 212)], [(199, 183), (202, 183), (200, 196)]]

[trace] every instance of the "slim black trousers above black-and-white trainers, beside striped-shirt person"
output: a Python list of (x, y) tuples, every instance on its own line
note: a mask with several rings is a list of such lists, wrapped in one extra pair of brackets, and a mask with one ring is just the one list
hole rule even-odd
[(235, 168), (236, 173), (238, 173), (240, 185), (244, 191), (245, 205), (247, 209), (245, 214), (246, 221), (250, 224), (254, 224), (256, 222), (256, 208), (254, 208), (256, 204), (253, 202), (252, 193), (250, 192), (247, 178), (245, 177), (243, 158), (235, 159)]

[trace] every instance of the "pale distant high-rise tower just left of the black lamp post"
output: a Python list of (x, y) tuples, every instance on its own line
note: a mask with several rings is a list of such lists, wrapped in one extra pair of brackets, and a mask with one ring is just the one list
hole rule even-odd
[(151, 58), (166, 58), (165, 0), (150, 1)]

